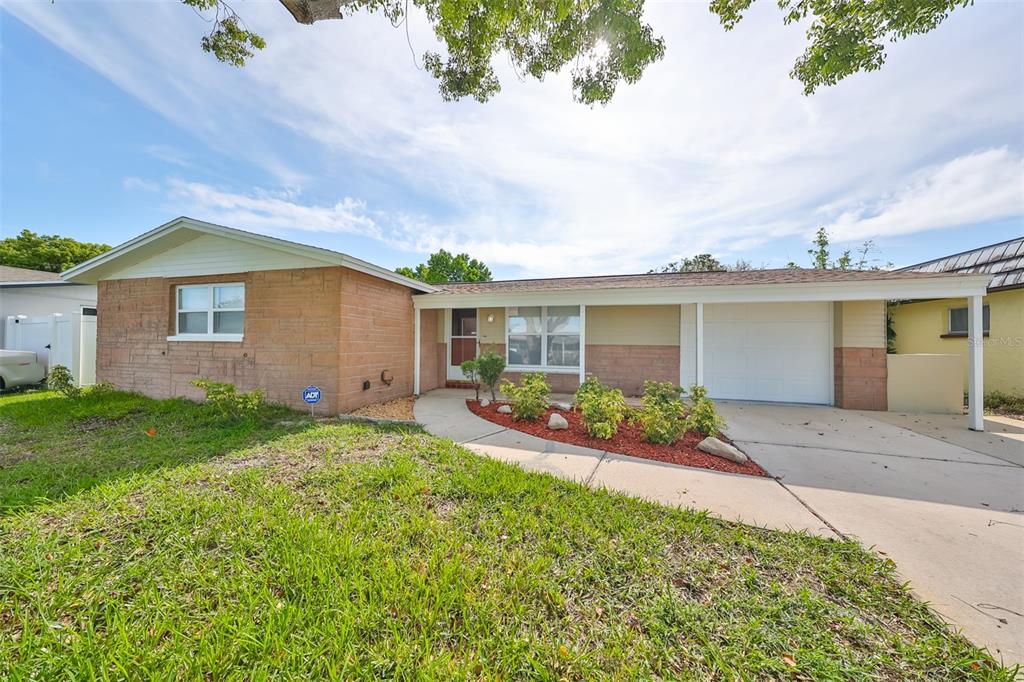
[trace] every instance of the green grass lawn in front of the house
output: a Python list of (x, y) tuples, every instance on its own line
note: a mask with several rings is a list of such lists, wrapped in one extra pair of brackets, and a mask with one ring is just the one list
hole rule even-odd
[(1013, 678), (855, 543), (592, 492), (417, 429), (48, 392), (0, 396), (5, 672)]

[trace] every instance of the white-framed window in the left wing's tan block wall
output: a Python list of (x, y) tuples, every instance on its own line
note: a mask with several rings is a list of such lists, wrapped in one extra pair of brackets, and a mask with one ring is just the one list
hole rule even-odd
[(246, 318), (244, 284), (177, 288), (177, 335), (241, 337)]

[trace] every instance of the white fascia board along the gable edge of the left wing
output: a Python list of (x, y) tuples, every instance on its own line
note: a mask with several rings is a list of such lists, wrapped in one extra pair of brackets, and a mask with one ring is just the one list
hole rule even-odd
[(95, 278), (89, 278), (88, 272), (96, 269), (116, 258), (120, 258), (135, 249), (138, 249), (146, 244), (151, 244), (156, 240), (162, 239), (178, 229), (188, 229), (196, 232), (202, 232), (206, 235), (215, 235), (218, 237), (225, 237), (228, 239), (238, 240), (240, 242), (245, 242), (255, 246), (261, 246), (268, 249), (273, 249), (275, 251), (281, 251), (284, 253), (289, 253), (296, 256), (302, 256), (305, 258), (312, 258), (314, 260), (322, 261), (325, 265), (342, 265), (344, 267), (357, 270), (359, 272), (365, 272), (373, 276), (379, 278), (381, 280), (387, 280), (388, 282), (393, 282), (395, 284), (400, 284), (402, 286), (415, 289), (420, 292), (435, 292), (437, 291), (434, 287), (428, 284), (424, 284), (418, 280), (412, 280), (407, 276), (402, 276), (397, 272), (389, 270), (387, 268), (381, 267), (379, 265), (374, 265), (365, 260), (358, 258), (353, 258), (347, 254), (343, 254), (337, 251), (331, 251), (330, 249), (321, 249), (319, 247), (308, 246), (305, 244), (297, 244), (295, 242), (288, 242), (286, 240), (280, 240), (273, 237), (265, 237), (263, 235), (256, 235), (253, 232), (247, 232), (241, 229), (234, 229), (233, 227), (225, 227), (224, 225), (215, 225), (210, 222), (204, 222), (202, 220), (195, 220), (193, 218), (179, 217), (166, 222), (159, 227), (151, 229), (150, 231), (139, 235), (135, 239), (129, 240), (124, 244), (111, 249), (105, 253), (101, 253), (98, 256), (91, 258), (84, 263), (80, 263), (75, 267), (65, 270), (60, 273), (60, 276), (67, 282), (80, 282), (95, 284)]

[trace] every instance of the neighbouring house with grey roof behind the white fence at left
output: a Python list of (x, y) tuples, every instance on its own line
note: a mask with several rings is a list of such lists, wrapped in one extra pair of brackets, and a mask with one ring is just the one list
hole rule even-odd
[(96, 287), (68, 282), (56, 272), (0, 265), (0, 348), (6, 348), (7, 317), (54, 313), (95, 314)]

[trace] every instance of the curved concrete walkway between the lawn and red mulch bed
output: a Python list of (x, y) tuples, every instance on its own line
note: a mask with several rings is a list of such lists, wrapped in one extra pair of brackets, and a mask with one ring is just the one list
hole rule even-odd
[(681, 467), (546, 440), (480, 419), (466, 408), (472, 391), (436, 389), (416, 401), (416, 421), (481, 455), (655, 502), (708, 509), (734, 521), (835, 537), (771, 478)]

